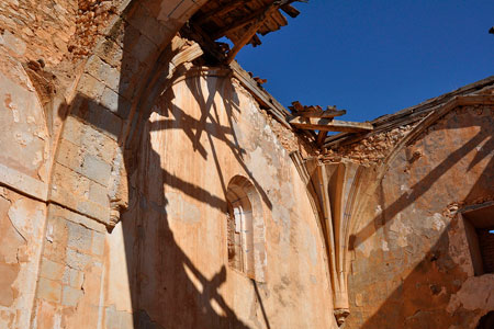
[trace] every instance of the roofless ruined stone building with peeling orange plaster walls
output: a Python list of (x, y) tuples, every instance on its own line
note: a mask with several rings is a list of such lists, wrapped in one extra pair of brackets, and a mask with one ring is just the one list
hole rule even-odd
[(0, 328), (494, 328), (494, 77), (285, 109), (290, 2), (0, 1)]

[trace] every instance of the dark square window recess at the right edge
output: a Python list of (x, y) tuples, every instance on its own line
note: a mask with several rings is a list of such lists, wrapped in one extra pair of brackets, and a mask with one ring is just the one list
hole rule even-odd
[(494, 202), (462, 209), (475, 275), (494, 273)]

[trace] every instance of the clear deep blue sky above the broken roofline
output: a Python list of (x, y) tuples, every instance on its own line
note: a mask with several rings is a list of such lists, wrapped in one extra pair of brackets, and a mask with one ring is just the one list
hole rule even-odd
[(283, 105), (394, 113), (494, 75), (494, 0), (295, 2), (289, 25), (238, 63)]

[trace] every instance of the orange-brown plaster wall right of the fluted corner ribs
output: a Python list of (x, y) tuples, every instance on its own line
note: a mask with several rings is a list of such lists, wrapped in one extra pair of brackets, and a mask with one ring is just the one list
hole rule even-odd
[(494, 308), (456, 215), (494, 197), (493, 111), (457, 107), (391, 163), (350, 246), (346, 328), (474, 328)]

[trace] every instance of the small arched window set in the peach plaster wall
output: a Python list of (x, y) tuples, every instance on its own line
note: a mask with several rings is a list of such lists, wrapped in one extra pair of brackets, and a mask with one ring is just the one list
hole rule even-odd
[(256, 188), (236, 175), (228, 184), (227, 250), (231, 268), (256, 281), (265, 281), (266, 249), (262, 204)]

